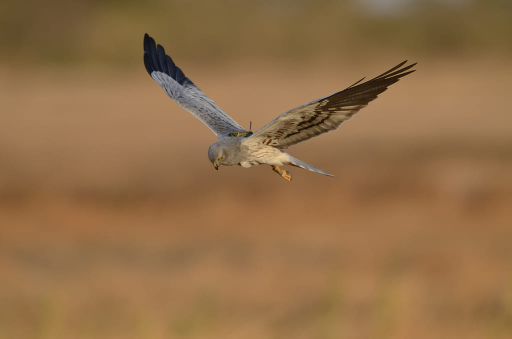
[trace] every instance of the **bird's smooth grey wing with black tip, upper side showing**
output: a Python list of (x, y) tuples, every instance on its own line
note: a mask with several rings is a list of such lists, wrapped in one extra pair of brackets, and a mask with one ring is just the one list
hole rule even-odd
[(247, 132), (190, 81), (147, 33), (144, 34), (144, 66), (171, 99), (201, 120), (218, 138)]

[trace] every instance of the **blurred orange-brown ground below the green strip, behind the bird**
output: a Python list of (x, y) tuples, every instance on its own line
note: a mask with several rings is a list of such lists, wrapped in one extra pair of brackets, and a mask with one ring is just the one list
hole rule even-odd
[[(394, 63), (183, 68), (258, 129)], [(511, 68), (420, 62), (289, 150), (338, 178), (291, 168), (291, 183), (215, 171), (214, 136), (142, 70), (4, 68), (0, 331), (509, 337)]]

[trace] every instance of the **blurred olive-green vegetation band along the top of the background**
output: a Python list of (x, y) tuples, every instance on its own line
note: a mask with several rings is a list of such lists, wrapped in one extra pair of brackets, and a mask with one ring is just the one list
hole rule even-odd
[(40, 65), (140, 62), (145, 32), (201, 60), (359, 58), (375, 51), (507, 56), (512, 2), (8, 1), (0, 5), (0, 29), (0, 61)]

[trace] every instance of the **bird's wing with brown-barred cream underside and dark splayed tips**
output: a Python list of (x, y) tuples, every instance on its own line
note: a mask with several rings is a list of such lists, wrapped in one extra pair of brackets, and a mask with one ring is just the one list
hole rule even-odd
[(244, 143), (263, 143), (285, 149), (296, 143), (318, 135), (337, 130), (344, 122), (352, 118), (360, 109), (386, 91), (388, 86), (415, 70), (408, 71), (416, 63), (401, 68), (407, 61), (401, 62), (391, 70), (332, 95), (308, 102), (296, 107), (263, 126)]

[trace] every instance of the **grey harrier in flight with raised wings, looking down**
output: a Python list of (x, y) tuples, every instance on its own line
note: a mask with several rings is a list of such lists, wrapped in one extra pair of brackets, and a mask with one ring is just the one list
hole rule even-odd
[(285, 152), (289, 146), (321, 134), (337, 130), (345, 121), (365, 108), (377, 95), (400, 78), (415, 72), (416, 63), (407, 60), (366, 82), (360, 79), (343, 91), (300, 105), (279, 115), (256, 132), (245, 130), (219, 106), (208, 98), (173, 59), (165, 54), (155, 39), (144, 34), (144, 66), (147, 73), (164, 92), (203, 122), (218, 138), (208, 149), (208, 158), (215, 169), (225, 165), (250, 167), (268, 164), (287, 181), (291, 174), (282, 169), (292, 165), (309, 171), (335, 177)]

